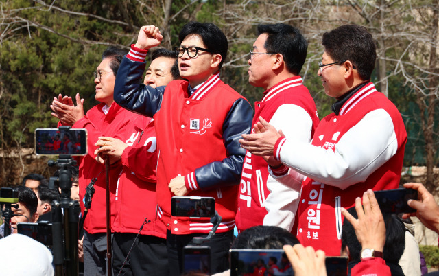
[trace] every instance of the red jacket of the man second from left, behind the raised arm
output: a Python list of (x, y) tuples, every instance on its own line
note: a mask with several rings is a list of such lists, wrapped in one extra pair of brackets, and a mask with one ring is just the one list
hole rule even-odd
[(156, 217), (156, 167), (157, 144), (154, 119), (136, 115), (126, 126), (129, 146), (122, 153), (123, 170), (117, 182), (115, 205), (112, 213), (115, 221), (112, 230), (118, 233), (166, 238), (166, 227)]

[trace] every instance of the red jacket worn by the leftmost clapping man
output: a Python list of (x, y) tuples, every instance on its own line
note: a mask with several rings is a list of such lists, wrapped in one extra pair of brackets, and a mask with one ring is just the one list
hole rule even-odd
[[(104, 233), (106, 231), (106, 198), (105, 198), (105, 165), (95, 160), (95, 143), (100, 136), (114, 137), (126, 140), (125, 127), (130, 122), (134, 113), (121, 108), (113, 103), (107, 113), (104, 114), (102, 107), (104, 103), (93, 106), (86, 116), (73, 124), (72, 128), (86, 128), (87, 130), (87, 155), (80, 159), (79, 186), (80, 186), (80, 204), (81, 211), (84, 214), (85, 189), (91, 179), (97, 177), (95, 183), (95, 194), (91, 202), (91, 208), (88, 209), (84, 229), (87, 233)], [(122, 170), (121, 162), (110, 166), (110, 192), (111, 200), (114, 202), (117, 179)], [(111, 219), (111, 221), (113, 218)]]

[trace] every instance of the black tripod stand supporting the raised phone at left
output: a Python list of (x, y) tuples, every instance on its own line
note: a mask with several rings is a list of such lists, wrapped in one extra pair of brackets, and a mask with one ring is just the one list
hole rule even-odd
[[(60, 167), (58, 179), (50, 178), (49, 187), (54, 189), (55, 181), (61, 188), (60, 201), (52, 202), (52, 232), (54, 240), (54, 265), (56, 275), (64, 275), (63, 264), (66, 264), (65, 275), (78, 275), (78, 216), (80, 205), (72, 200), (71, 195), (71, 170), (69, 166), (75, 165), (75, 160), (70, 155), (60, 155), (56, 164)], [(49, 165), (54, 165), (52, 161)], [(62, 214), (62, 209), (64, 214)], [(62, 235), (64, 233), (64, 237)], [(63, 246), (63, 241), (64, 245)]]

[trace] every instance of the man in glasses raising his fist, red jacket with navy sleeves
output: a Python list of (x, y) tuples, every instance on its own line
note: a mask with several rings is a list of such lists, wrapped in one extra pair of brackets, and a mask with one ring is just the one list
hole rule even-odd
[(180, 76), (163, 87), (139, 84), (148, 49), (163, 36), (143, 26), (137, 43), (121, 63), (115, 101), (134, 112), (154, 117), (160, 157), (157, 168), (157, 216), (167, 227), (170, 275), (182, 273), (184, 246), (209, 233), (209, 218), (171, 216), (172, 196), (209, 196), (222, 222), (212, 240), (212, 272), (228, 268), (237, 192), (245, 150), (238, 139), (250, 132), (252, 108), (219, 78), (228, 49), (227, 38), (212, 23), (189, 22), (176, 47)]

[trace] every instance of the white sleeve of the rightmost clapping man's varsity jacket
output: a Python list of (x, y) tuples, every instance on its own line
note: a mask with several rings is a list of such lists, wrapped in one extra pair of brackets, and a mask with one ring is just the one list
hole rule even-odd
[(346, 189), (365, 181), (392, 158), (396, 150), (398, 141), (392, 118), (383, 109), (378, 109), (348, 130), (335, 145), (335, 150), (286, 139), (281, 148), (281, 161), (316, 181)]

